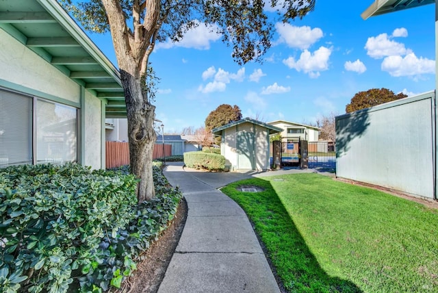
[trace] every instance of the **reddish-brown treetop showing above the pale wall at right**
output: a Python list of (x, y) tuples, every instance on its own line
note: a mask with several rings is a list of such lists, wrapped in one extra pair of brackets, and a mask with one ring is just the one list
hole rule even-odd
[(350, 103), (346, 105), (345, 111), (347, 113), (355, 112), (406, 97), (407, 95), (402, 92), (400, 92), (400, 94), (394, 94), (392, 90), (388, 90), (387, 88), (372, 88), (366, 92), (358, 92), (355, 94), (355, 97), (352, 97)]

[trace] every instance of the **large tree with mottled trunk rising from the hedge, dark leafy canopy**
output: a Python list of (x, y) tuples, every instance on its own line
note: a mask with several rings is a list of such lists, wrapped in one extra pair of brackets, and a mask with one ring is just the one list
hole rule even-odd
[[(57, 1), (85, 29), (111, 32), (127, 105), (130, 168), (140, 179), (137, 191), (140, 202), (155, 196), (152, 173), (157, 138), (153, 129), (155, 106), (145, 84), (155, 43), (178, 42), (185, 32), (208, 24), (232, 47), (235, 62), (261, 61), (271, 46), (279, 18), (285, 23), (302, 18), (315, 6), (315, 0)], [(277, 17), (270, 14), (272, 11)]]

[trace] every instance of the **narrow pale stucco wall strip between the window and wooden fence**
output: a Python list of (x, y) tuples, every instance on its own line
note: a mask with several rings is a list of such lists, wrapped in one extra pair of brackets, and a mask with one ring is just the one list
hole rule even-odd
[(102, 160), (102, 105), (101, 101), (90, 92), (85, 94), (85, 165), (92, 168), (103, 168), (105, 160)]

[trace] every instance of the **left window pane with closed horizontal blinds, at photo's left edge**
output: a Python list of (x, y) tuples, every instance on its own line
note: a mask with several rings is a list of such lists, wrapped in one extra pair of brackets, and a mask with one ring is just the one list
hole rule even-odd
[(32, 163), (32, 99), (0, 89), (0, 166)]

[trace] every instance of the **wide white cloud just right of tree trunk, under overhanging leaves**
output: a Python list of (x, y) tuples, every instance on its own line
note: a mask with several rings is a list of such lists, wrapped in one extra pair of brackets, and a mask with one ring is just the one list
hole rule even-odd
[(198, 25), (193, 29), (185, 32), (183, 38), (179, 42), (172, 42), (170, 39), (166, 42), (159, 42), (155, 49), (170, 49), (172, 47), (194, 48), (199, 50), (210, 49), (210, 42), (216, 42), (221, 38), (221, 34), (218, 34), (217, 25), (206, 25), (195, 21)]

